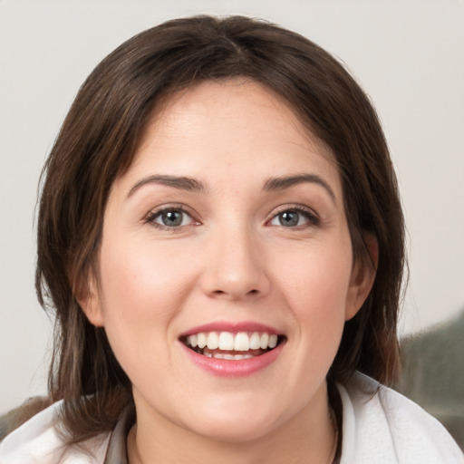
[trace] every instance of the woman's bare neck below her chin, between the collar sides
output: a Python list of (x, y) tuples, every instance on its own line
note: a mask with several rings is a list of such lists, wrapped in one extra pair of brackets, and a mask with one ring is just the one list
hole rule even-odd
[[(310, 464), (332, 463), (337, 432), (327, 400), (313, 398), (291, 420), (254, 440), (218, 440), (160, 416), (140, 414), (128, 437), (130, 464)], [(322, 401), (321, 401), (322, 400)], [(137, 405), (137, 402), (136, 402)]]

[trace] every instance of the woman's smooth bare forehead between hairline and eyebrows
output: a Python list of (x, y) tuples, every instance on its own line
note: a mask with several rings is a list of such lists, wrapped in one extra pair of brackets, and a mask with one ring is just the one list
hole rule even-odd
[(257, 180), (307, 169), (338, 177), (332, 151), (288, 102), (240, 78), (202, 82), (166, 98), (147, 124), (129, 171), (200, 178), (222, 172), (227, 179), (251, 171)]

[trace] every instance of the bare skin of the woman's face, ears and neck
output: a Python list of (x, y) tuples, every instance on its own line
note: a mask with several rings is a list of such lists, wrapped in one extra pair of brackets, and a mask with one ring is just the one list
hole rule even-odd
[[(300, 174), (323, 179), (333, 196), (313, 181), (264, 189)], [(204, 189), (140, 185), (151, 175)], [(295, 206), (310, 216), (283, 226), (278, 215)], [(182, 224), (163, 226), (162, 208), (185, 208)], [(112, 186), (99, 267), (81, 304), (133, 384), (131, 463), (331, 459), (325, 376), (373, 273), (353, 264), (332, 153), (285, 102), (243, 80), (171, 99)], [(179, 334), (217, 321), (271, 325), (285, 333), (284, 349), (253, 375), (205, 372)]]

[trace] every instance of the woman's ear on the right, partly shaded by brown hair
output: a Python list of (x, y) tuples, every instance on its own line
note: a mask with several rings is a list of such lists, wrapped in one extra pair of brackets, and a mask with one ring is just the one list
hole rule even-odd
[(379, 264), (379, 244), (371, 233), (364, 233), (364, 243), (370, 258), (357, 260), (353, 264), (348, 294), (346, 295), (345, 321), (354, 317), (371, 292)]

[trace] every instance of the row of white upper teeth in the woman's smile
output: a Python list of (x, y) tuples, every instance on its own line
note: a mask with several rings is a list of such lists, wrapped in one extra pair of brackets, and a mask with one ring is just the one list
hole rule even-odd
[(227, 350), (236, 352), (247, 352), (248, 350), (258, 350), (275, 348), (277, 345), (277, 335), (269, 333), (230, 333), (230, 332), (200, 332), (187, 337), (187, 343), (192, 347), (205, 348), (208, 350)]

